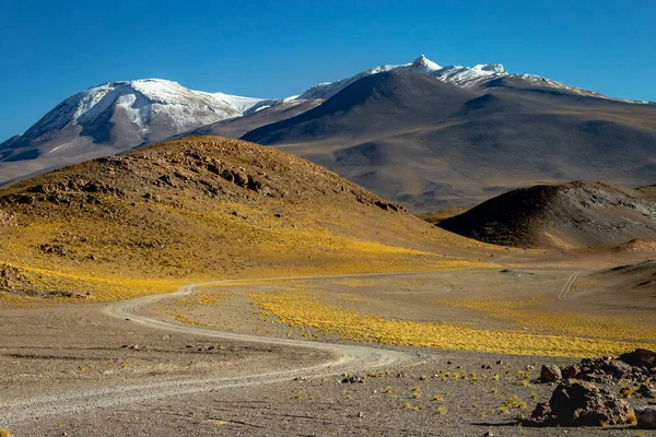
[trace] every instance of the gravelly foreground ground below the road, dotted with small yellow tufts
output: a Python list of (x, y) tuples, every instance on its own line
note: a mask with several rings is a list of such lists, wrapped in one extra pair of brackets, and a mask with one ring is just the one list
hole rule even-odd
[[(542, 358), (424, 351), (425, 362), (359, 375), (326, 375), (215, 390), (15, 428), (16, 435), (247, 436), (647, 436), (631, 424), (527, 421), (557, 388), (538, 381)], [(566, 361), (553, 361), (561, 366)], [(484, 368), (483, 368), (484, 367)], [(488, 368), (490, 367), (490, 368)], [(447, 376), (448, 375), (448, 376)], [(475, 376), (472, 376), (475, 375)], [(494, 375), (499, 375), (499, 380)], [(558, 386), (560, 387), (560, 386)], [(617, 402), (619, 385), (601, 385)], [(652, 400), (653, 401), (653, 400)], [(553, 402), (553, 400), (552, 400)], [(619, 413), (618, 413), (619, 414)]]

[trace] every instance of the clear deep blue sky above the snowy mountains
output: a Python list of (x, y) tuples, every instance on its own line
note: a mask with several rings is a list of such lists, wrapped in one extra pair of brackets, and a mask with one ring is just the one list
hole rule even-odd
[(421, 54), (656, 101), (655, 17), (654, 0), (0, 0), (0, 141), (110, 80), (282, 97)]

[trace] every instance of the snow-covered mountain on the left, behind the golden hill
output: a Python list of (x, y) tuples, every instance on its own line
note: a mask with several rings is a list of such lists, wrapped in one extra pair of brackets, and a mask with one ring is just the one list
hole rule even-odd
[(0, 144), (0, 184), (113, 155), (278, 101), (203, 93), (176, 82), (108, 82), (67, 98), (25, 133)]

